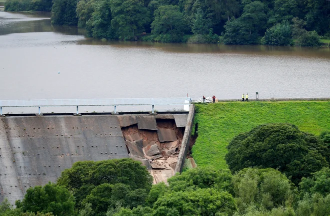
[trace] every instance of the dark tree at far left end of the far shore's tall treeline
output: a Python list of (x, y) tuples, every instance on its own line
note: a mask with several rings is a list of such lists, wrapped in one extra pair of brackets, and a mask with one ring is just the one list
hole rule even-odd
[(77, 0), (54, 0), (51, 8), (51, 24), (77, 25)]

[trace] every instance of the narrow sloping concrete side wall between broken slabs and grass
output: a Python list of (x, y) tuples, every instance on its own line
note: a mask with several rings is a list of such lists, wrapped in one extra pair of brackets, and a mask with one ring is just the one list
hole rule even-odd
[(184, 134), (183, 134), (183, 139), (182, 139), (182, 143), (181, 143), (180, 152), (179, 152), (176, 167), (175, 167), (175, 170), (174, 170), (175, 173), (182, 171), (184, 161), (185, 161), (185, 157), (187, 155), (187, 151), (188, 151), (188, 148), (189, 148), (189, 140), (190, 140), (190, 135), (191, 135), (191, 129), (192, 129), (192, 126), (193, 126), (194, 116), (195, 116), (195, 105), (191, 104), (190, 108), (189, 108), (187, 123), (186, 123), (185, 129), (184, 129)]

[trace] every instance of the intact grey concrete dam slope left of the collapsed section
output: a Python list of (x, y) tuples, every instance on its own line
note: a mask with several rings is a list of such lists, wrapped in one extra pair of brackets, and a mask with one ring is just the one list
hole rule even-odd
[(117, 116), (0, 118), (0, 202), (56, 182), (76, 161), (128, 158)]

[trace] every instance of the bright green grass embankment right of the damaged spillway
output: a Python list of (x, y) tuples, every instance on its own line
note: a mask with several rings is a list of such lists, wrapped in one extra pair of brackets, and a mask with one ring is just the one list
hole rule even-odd
[(196, 104), (198, 137), (192, 147), (197, 166), (227, 168), (224, 156), (230, 140), (265, 123), (291, 123), (319, 135), (330, 130), (330, 101), (219, 102)]

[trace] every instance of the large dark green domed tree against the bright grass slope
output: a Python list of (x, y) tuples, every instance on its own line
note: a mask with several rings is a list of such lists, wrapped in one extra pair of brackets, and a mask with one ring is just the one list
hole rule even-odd
[(231, 172), (247, 167), (274, 168), (298, 184), (328, 166), (330, 150), (314, 135), (291, 124), (260, 125), (240, 133), (227, 146), (225, 160)]

